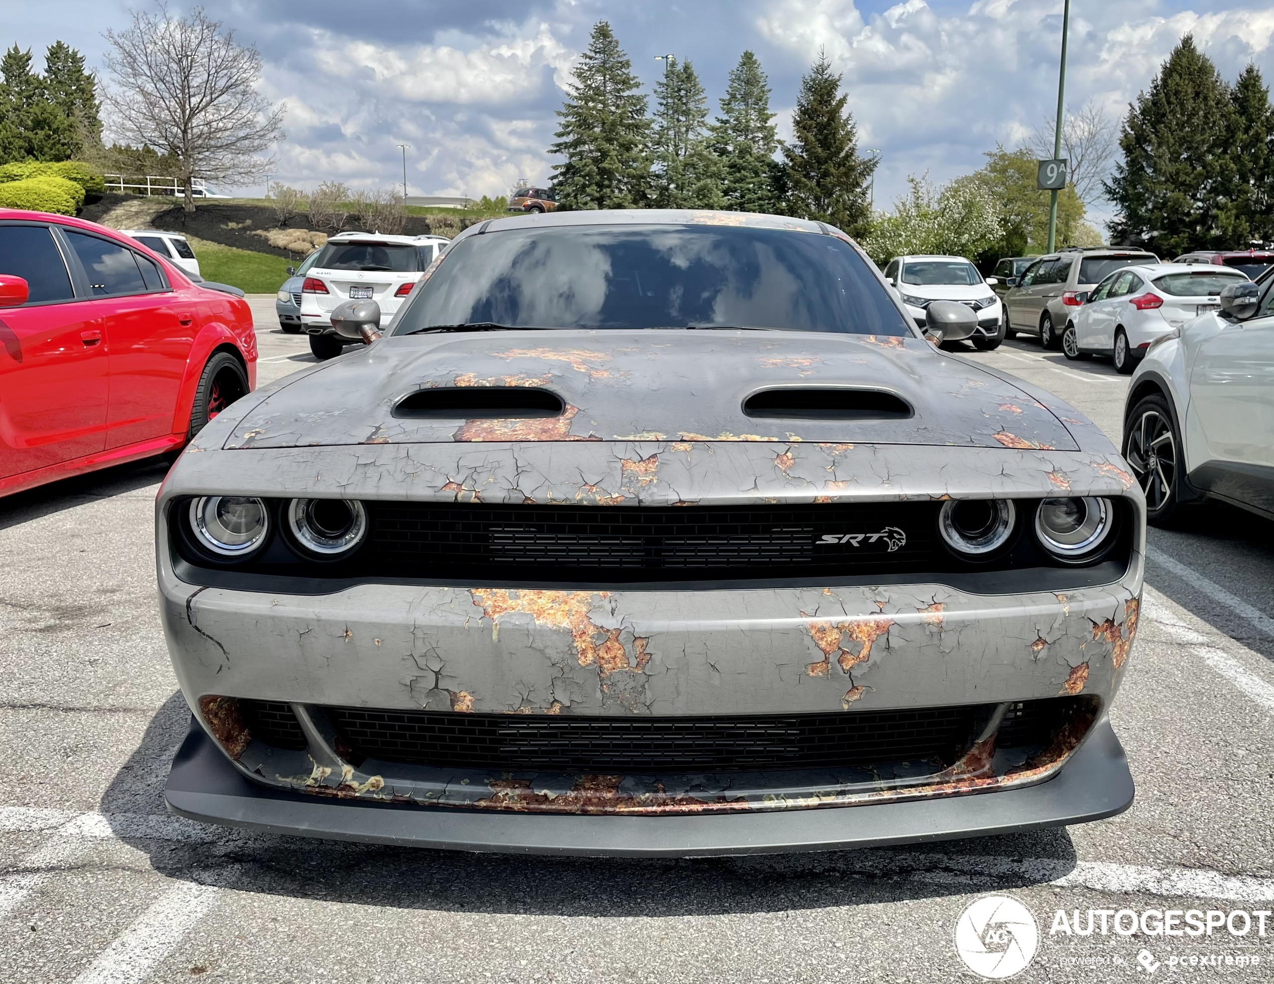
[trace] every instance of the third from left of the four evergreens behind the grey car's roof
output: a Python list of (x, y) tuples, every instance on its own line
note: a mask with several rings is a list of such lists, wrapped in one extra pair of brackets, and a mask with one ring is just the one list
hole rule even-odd
[(712, 148), (722, 161), (721, 192), (736, 212), (773, 212), (777, 206), (773, 159), (778, 134), (769, 111), (769, 79), (761, 61), (744, 51), (730, 70), (721, 115), (712, 125)]

